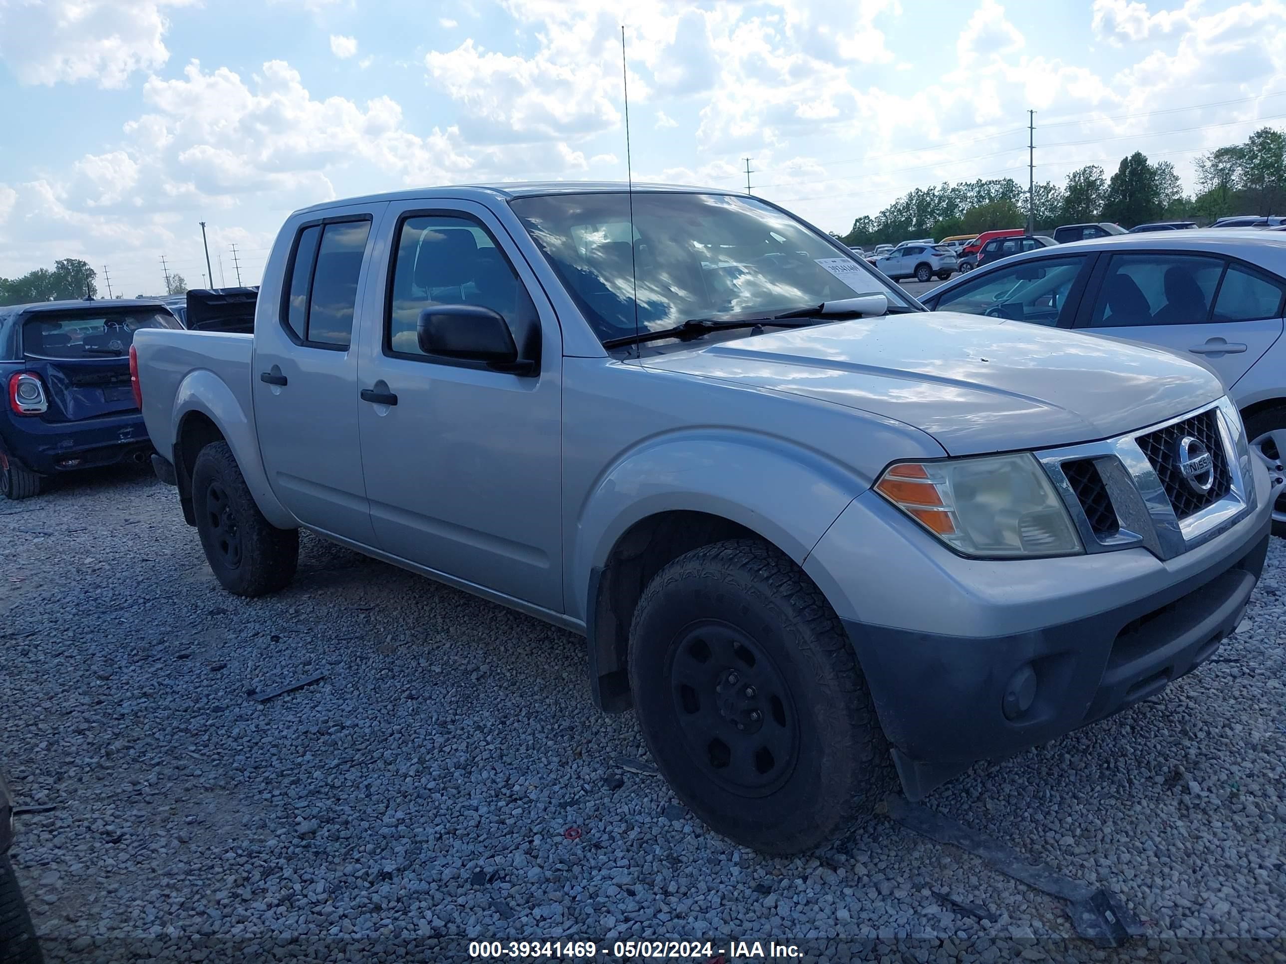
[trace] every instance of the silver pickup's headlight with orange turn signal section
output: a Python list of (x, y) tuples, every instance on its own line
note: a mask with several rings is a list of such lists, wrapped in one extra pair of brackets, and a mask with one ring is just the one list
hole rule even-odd
[(1071, 517), (1035, 456), (900, 461), (876, 491), (964, 555), (1083, 553)]

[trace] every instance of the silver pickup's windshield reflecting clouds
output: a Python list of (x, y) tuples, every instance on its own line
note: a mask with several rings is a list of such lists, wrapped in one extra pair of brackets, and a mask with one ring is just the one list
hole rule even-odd
[(864, 261), (757, 198), (635, 192), (511, 202), (601, 341), (697, 317), (757, 317), (883, 294), (914, 302)]

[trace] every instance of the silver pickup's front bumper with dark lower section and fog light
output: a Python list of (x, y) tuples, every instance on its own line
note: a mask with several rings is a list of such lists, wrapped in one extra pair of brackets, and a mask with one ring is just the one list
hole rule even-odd
[[(805, 569), (840, 599), (913, 799), (979, 760), (1146, 699), (1209, 659), (1241, 620), (1271, 526), (1262, 499), (1228, 531), (1164, 562), (1146, 549), (986, 562), (945, 553), (895, 512), (860, 496)], [(881, 537), (883, 527), (900, 545)], [(836, 578), (840, 558), (847, 567)]]

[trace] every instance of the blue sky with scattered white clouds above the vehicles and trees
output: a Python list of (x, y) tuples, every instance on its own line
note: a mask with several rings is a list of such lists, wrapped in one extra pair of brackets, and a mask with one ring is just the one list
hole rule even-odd
[[(0, 275), (256, 283), (289, 211), (409, 185), (741, 186), (844, 231), (916, 186), (1286, 126), (1286, 6), (1190, 0), (0, 0)], [(222, 269), (220, 269), (220, 258)]]

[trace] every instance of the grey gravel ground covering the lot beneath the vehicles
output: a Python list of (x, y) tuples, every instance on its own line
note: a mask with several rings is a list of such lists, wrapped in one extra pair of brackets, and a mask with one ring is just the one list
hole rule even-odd
[(19, 819), (14, 851), (51, 960), (658, 936), (818, 960), (1286, 960), (1281, 542), (1217, 662), (928, 801), (1120, 895), (1147, 937), (1110, 952), (885, 816), (805, 857), (729, 844), (615, 762), (643, 743), (592, 708), (580, 639), (318, 539), (292, 589), (235, 599), (174, 490), (122, 470), (0, 501), (0, 758), (19, 803), (57, 806)]

